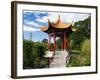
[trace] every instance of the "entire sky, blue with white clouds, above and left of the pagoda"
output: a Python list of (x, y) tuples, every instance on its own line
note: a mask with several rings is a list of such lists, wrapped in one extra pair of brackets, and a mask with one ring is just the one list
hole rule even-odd
[(32, 33), (32, 40), (42, 41), (44, 38), (48, 39), (48, 35), (42, 32), (39, 28), (48, 26), (47, 19), (51, 22), (56, 22), (60, 15), (64, 23), (72, 23), (79, 20), (84, 20), (90, 16), (86, 13), (62, 13), (62, 12), (47, 12), (47, 11), (23, 11), (23, 32), (24, 39), (30, 39)]

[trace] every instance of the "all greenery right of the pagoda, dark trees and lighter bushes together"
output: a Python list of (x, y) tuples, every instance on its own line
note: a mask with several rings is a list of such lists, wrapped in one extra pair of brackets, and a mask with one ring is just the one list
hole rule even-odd
[[(71, 34), (71, 58), (68, 67), (91, 65), (91, 17), (75, 23), (77, 31)], [(79, 52), (77, 52), (79, 50)]]

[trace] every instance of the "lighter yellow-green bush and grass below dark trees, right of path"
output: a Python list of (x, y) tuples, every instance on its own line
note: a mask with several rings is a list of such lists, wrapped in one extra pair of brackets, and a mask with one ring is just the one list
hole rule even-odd
[(70, 52), (71, 59), (69, 61), (68, 67), (76, 67), (76, 66), (90, 66), (91, 65), (91, 48), (90, 48), (90, 40), (86, 39), (82, 43), (81, 51), (74, 50)]

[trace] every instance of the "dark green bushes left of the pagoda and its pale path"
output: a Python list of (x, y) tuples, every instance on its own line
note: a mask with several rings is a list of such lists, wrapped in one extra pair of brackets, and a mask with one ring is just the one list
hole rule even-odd
[(23, 68), (43, 68), (47, 67), (47, 59), (44, 58), (47, 44), (24, 40), (23, 42)]

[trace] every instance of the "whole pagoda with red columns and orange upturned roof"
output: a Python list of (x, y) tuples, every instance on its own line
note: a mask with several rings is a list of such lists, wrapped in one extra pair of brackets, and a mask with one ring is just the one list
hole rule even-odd
[[(48, 49), (53, 52), (53, 55), (51, 56), (51, 58), (54, 58), (55, 53), (56, 53), (55, 51), (57, 49), (57, 44), (56, 44), (57, 37), (61, 38), (61, 40), (62, 40), (62, 45), (61, 45), (62, 51), (70, 50), (70, 47), (71, 47), (70, 46), (70, 42), (71, 42), (70, 35), (74, 31), (76, 31), (76, 29), (73, 28), (73, 23), (62, 22), (60, 19), (60, 15), (59, 15), (58, 20), (55, 23), (51, 22), (48, 19), (48, 26), (41, 27), (40, 29), (41, 29), (41, 31), (48, 34)], [(53, 49), (51, 49), (51, 47), (50, 47), (51, 38), (53, 38), (53, 40), (54, 40)], [(66, 56), (65, 56), (65, 58), (66, 58)], [(51, 63), (51, 58), (49, 59), (49, 64)]]

